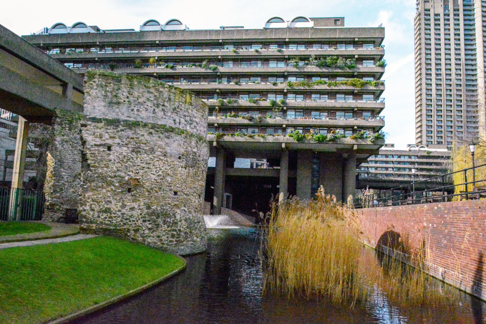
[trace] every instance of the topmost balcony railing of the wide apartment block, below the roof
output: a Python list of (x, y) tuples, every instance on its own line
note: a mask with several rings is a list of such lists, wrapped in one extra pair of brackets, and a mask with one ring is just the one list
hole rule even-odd
[[(150, 47), (150, 48), (119, 48), (119, 49), (104, 49), (104, 50), (72, 50), (66, 53), (147, 53), (147, 52), (195, 52), (195, 51), (347, 51), (347, 50), (362, 50), (362, 51), (376, 51), (384, 49), (384, 45), (379, 47), (363, 47), (356, 45), (347, 45), (344, 48), (340, 46), (309, 46), (309, 45), (286, 45), (286, 46), (168, 46), (168, 47)], [(45, 51), (47, 54), (59, 54), (58, 51)]]

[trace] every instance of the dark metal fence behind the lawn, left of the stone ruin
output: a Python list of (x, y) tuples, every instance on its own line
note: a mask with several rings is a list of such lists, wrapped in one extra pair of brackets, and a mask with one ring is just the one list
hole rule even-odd
[(44, 201), (42, 191), (0, 187), (0, 221), (40, 221)]

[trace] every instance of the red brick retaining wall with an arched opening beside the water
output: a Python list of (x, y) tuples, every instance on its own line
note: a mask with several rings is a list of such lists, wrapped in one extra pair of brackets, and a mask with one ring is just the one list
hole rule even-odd
[(366, 244), (376, 247), (378, 241), (398, 233), (409, 255), (425, 245), (432, 275), (486, 300), (485, 200), (366, 208), (355, 213)]

